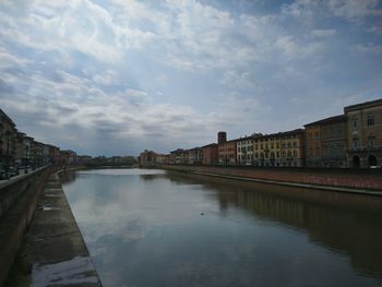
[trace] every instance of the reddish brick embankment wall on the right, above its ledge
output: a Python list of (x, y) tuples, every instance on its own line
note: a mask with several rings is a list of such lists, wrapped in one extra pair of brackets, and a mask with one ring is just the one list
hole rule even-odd
[(163, 166), (168, 170), (210, 174), (264, 181), (302, 183), (318, 187), (365, 189), (382, 192), (380, 169), (309, 169), (226, 166)]

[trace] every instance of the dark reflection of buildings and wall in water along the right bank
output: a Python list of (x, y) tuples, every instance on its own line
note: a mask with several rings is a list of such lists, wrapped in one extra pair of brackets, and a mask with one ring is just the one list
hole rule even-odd
[[(167, 176), (179, 184), (203, 184), (223, 214), (241, 208), (307, 234), (311, 242), (348, 254), (363, 274), (382, 274), (382, 200), (320, 190), (256, 184), (203, 176)], [(259, 191), (260, 190), (260, 191)]]

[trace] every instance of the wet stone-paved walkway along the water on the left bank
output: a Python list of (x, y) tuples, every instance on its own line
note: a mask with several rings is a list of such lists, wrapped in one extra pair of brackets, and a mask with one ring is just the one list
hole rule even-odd
[(57, 174), (41, 192), (8, 286), (102, 286)]

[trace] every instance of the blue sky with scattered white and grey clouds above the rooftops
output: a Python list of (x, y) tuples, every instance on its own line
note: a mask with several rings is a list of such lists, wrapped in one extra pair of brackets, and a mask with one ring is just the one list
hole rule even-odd
[(381, 0), (0, 0), (0, 108), (82, 155), (302, 128), (381, 80)]

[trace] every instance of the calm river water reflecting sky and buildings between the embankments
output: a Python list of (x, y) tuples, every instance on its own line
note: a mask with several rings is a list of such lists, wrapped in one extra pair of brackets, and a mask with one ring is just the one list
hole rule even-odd
[(68, 174), (105, 287), (382, 286), (382, 199), (154, 169)]

